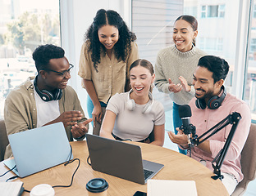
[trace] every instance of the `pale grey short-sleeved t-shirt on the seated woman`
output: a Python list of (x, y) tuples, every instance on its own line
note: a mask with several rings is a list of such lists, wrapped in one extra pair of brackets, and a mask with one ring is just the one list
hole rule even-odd
[(107, 110), (117, 114), (112, 132), (121, 139), (130, 139), (133, 141), (144, 140), (153, 131), (154, 125), (165, 123), (163, 106), (158, 100), (153, 100), (153, 105), (152, 100), (149, 100), (152, 105), (149, 113), (142, 113), (145, 105), (135, 104), (135, 109), (129, 110), (126, 107), (128, 93), (117, 93), (112, 96), (107, 104)]

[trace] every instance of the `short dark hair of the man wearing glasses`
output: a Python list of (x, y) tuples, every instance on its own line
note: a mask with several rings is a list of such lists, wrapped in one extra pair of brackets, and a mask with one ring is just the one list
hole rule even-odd
[(38, 73), (40, 70), (48, 68), (51, 59), (60, 59), (63, 58), (64, 55), (65, 51), (62, 47), (57, 47), (53, 44), (41, 45), (35, 48), (33, 59)]

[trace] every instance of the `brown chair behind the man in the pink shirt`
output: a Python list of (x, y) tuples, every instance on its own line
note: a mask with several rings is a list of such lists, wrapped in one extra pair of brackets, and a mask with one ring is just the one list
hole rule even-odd
[(231, 196), (245, 194), (247, 185), (256, 176), (256, 124), (252, 123), (249, 129), (249, 136), (241, 153), (241, 167), (244, 179), (236, 186)]

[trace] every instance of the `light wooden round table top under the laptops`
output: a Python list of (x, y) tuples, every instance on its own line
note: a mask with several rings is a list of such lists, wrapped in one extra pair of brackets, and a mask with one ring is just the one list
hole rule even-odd
[[(221, 180), (213, 180), (211, 178), (213, 172), (194, 159), (171, 149), (162, 148), (156, 145), (137, 142), (130, 143), (141, 146), (142, 157), (144, 159), (164, 164), (162, 170), (159, 171), (153, 179), (194, 180), (198, 195), (228, 195)], [(131, 196), (137, 190), (147, 192), (147, 185), (139, 185), (135, 182), (94, 171), (86, 162), (89, 154), (86, 141), (71, 142), (71, 145), (74, 158), (80, 158), (80, 167), (75, 173), (73, 185), (71, 185), (71, 187), (54, 188), (56, 196), (88, 195), (85, 185), (90, 179), (96, 177), (101, 177), (107, 180), (109, 184), (107, 195), (110, 196)], [(77, 164), (78, 161), (68, 164), (67, 166), (61, 164), (57, 167), (52, 167), (48, 170), (18, 180), (23, 181), (25, 189), (28, 190), (31, 190), (35, 185), (44, 183), (49, 185), (70, 185), (71, 176), (75, 171)], [(7, 167), (5, 167), (3, 163), (0, 163), (0, 174), (4, 171), (7, 171)], [(14, 176), (12, 172), (9, 172), (6, 176), (0, 178), (0, 181), (6, 180), (10, 176)], [(22, 194), (22, 196), (25, 195), (29, 194), (26, 192)]]

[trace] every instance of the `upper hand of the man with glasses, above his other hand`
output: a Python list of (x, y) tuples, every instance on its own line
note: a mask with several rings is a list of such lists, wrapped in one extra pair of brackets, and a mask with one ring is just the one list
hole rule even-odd
[(67, 111), (63, 112), (54, 122), (63, 122), (64, 127), (74, 126), (77, 121), (82, 119), (83, 114), (80, 111)]

